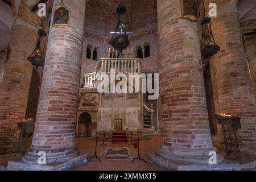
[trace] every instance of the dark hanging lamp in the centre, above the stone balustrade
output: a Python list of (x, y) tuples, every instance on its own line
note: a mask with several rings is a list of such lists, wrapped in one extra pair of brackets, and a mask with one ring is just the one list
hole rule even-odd
[[(126, 7), (119, 5), (117, 7), (118, 22), (117, 28), (115, 29), (112, 39), (109, 41), (109, 44), (113, 46), (115, 50), (118, 50), (118, 55), (121, 54), (122, 50), (127, 49), (130, 45), (128, 35), (126, 34), (126, 26), (121, 21), (121, 16), (126, 13)], [(119, 30), (119, 32), (118, 32)]]

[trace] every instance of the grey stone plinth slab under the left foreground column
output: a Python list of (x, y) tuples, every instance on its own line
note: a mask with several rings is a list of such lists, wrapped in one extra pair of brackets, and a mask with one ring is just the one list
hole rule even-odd
[(80, 154), (73, 159), (61, 163), (39, 165), (23, 161), (9, 161), (8, 171), (68, 171), (82, 163), (88, 162), (88, 154)]

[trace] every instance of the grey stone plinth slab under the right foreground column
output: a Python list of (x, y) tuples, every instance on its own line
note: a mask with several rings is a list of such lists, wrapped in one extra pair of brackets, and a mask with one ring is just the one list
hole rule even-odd
[(241, 165), (238, 163), (228, 163), (222, 161), (221, 163), (217, 163), (217, 165), (210, 165), (206, 163), (202, 164), (187, 162), (185, 161), (185, 158), (184, 161), (166, 158), (156, 154), (155, 152), (150, 152), (149, 158), (152, 162), (170, 171), (234, 171), (241, 169)]

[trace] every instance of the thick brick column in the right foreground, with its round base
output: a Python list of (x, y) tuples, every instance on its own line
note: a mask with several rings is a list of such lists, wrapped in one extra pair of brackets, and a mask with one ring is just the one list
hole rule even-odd
[[(180, 0), (158, 1), (158, 39), (164, 143), (154, 162), (208, 164), (212, 146), (197, 23), (181, 19)], [(158, 156), (161, 156), (159, 158)]]

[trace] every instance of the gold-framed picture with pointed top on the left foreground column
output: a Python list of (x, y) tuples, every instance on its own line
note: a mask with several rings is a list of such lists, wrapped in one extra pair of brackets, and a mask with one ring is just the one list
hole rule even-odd
[(56, 7), (53, 13), (52, 26), (69, 26), (71, 18), (71, 9), (64, 5), (63, 1)]

